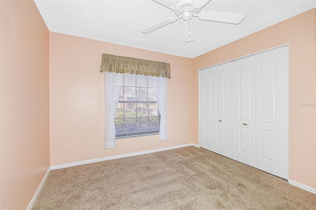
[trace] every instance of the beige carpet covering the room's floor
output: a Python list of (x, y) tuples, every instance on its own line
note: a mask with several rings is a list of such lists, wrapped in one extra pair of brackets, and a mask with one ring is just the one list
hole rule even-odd
[(316, 210), (316, 194), (194, 146), (49, 173), (33, 210)]

